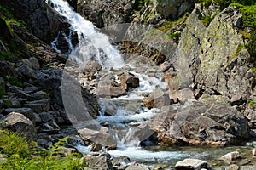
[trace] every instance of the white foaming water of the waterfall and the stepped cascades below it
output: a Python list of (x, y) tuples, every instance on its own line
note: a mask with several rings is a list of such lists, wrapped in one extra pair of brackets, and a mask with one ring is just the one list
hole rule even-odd
[[(118, 69), (125, 65), (124, 59), (122, 59), (119, 51), (111, 45), (109, 39), (106, 35), (97, 31), (96, 26), (85, 20), (82, 16), (75, 13), (72, 8), (69, 7), (67, 2), (63, 0), (46, 0), (46, 3), (49, 4), (52, 8), (66, 17), (69, 24), (71, 25), (70, 30), (76, 31), (79, 38), (79, 44), (77, 47), (73, 48), (69, 55), (69, 59), (73, 62), (76, 62), (78, 65), (81, 65), (84, 61), (96, 60), (99, 64), (102, 65), (102, 69), (108, 70), (109, 68)], [(57, 52), (61, 52), (55, 46), (57, 39), (52, 42), (53, 48)], [(67, 42), (69, 47), (72, 48), (71, 37), (67, 37)], [(148, 110), (148, 108), (141, 107), (143, 99), (143, 94), (151, 93), (154, 88), (166, 88), (166, 83), (161, 82), (155, 77), (148, 77), (143, 74), (138, 74), (137, 72), (132, 72), (133, 75), (139, 77), (140, 87), (134, 89), (129, 95), (121, 96), (119, 98), (108, 99), (115, 103), (129, 103), (134, 106), (138, 104), (137, 111), (127, 110), (127, 107), (119, 107), (115, 116), (99, 116), (97, 118), (98, 123), (108, 122), (113, 124), (113, 127), (121, 127), (126, 129), (125, 135), (116, 134), (118, 141), (118, 150), (108, 151), (113, 156), (129, 156), (134, 160), (170, 160), (170, 159), (180, 159), (183, 157), (188, 157), (188, 153), (183, 153), (180, 151), (148, 151), (143, 150), (142, 147), (138, 147), (137, 140), (132, 140), (130, 133), (132, 131), (132, 126), (136, 123), (140, 123), (148, 120), (151, 116), (154, 116), (157, 113), (156, 109)], [(104, 105), (104, 99), (99, 99), (99, 103)], [(135, 113), (137, 112), (137, 113)], [(129, 122), (129, 123), (125, 123)], [(129, 147), (127, 147), (129, 146)], [(83, 146), (79, 145), (77, 147), (84, 154), (88, 153), (88, 150), (85, 150)], [(88, 149), (88, 148), (87, 148)]]

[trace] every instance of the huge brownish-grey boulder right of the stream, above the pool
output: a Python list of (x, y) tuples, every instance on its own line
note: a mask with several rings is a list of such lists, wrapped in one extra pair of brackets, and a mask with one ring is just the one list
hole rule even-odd
[(228, 105), (207, 105), (188, 100), (170, 105), (153, 118), (153, 130), (164, 144), (221, 146), (249, 137), (247, 119)]

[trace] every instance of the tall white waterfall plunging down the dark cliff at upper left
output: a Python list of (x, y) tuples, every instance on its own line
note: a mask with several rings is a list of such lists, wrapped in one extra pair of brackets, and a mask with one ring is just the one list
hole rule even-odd
[[(99, 32), (90, 21), (85, 20), (80, 14), (74, 12), (67, 2), (63, 0), (46, 0), (46, 3), (55, 8), (55, 11), (61, 16), (67, 18), (71, 25), (70, 30), (78, 34), (79, 44), (73, 48), (69, 59), (79, 65), (84, 61), (96, 60), (102, 65), (102, 68), (120, 68), (125, 65), (124, 59), (119, 54), (119, 51), (113, 48), (108, 36)], [(55, 42), (56, 40), (52, 43), (53, 47), (55, 47)], [(59, 52), (57, 48), (55, 50)]]

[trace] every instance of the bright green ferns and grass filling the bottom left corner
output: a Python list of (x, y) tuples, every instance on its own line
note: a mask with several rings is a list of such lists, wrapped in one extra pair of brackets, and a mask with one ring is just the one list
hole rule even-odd
[(0, 130), (0, 153), (7, 159), (0, 163), (0, 169), (84, 169), (85, 163), (81, 161), (81, 154), (73, 153), (64, 156), (61, 149), (65, 139), (50, 147), (48, 150), (40, 149), (35, 143), (27, 143), (26, 139), (7, 130)]

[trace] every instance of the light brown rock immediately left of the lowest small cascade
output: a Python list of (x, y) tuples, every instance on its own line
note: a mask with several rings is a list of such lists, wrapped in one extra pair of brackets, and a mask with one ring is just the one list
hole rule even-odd
[(102, 133), (89, 128), (79, 129), (78, 133), (85, 144), (97, 143), (109, 148), (116, 148), (117, 146), (116, 140), (109, 133)]

